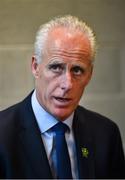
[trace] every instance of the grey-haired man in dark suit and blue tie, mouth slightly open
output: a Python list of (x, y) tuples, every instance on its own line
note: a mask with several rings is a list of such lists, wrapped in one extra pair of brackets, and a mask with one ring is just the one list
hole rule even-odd
[[(76, 17), (40, 27), (32, 57), (35, 90), (0, 112), (1, 178), (125, 178), (117, 125), (78, 105), (95, 51), (93, 31)], [(60, 133), (68, 151), (53, 130), (59, 122), (68, 127)]]

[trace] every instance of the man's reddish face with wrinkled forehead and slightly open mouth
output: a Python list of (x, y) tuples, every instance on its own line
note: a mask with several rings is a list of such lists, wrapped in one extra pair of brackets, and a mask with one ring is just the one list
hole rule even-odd
[(56, 28), (49, 33), (42, 62), (32, 59), (37, 99), (59, 120), (77, 107), (92, 73), (91, 47), (79, 31)]

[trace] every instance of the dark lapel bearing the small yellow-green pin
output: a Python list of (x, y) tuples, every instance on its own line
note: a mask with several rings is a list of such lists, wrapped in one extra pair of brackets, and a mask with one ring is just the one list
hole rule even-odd
[(73, 128), (80, 179), (95, 178), (94, 144), (86, 121), (84, 115), (76, 111)]

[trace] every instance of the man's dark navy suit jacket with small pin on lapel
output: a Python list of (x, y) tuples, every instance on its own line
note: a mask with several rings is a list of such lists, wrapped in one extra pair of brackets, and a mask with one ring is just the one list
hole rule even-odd
[[(73, 129), (79, 178), (125, 178), (125, 159), (115, 123), (79, 106)], [(0, 177), (53, 178), (31, 94), (0, 112)]]

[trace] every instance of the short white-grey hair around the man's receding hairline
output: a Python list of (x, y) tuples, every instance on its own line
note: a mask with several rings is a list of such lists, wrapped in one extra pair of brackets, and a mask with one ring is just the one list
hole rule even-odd
[(96, 53), (96, 38), (93, 30), (84, 21), (79, 20), (77, 17), (66, 15), (55, 17), (54, 19), (40, 26), (34, 43), (34, 56), (38, 64), (42, 61), (44, 45), (47, 41), (48, 33), (56, 27), (66, 27), (67, 29), (72, 28), (74, 30), (83, 32), (84, 35), (87, 35), (91, 45), (91, 60), (94, 60)]

